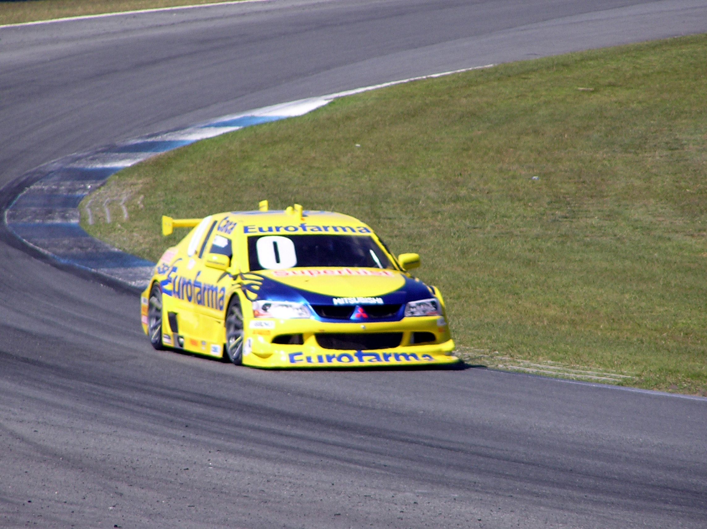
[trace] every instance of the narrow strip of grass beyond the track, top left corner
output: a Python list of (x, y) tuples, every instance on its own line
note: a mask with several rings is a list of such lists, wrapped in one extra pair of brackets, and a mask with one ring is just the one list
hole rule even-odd
[[(138, 9), (211, 4), (219, 0), (26, 0), (0, 1), (0, 25)], [(221, 0), (226, 1), (226, 0)]]

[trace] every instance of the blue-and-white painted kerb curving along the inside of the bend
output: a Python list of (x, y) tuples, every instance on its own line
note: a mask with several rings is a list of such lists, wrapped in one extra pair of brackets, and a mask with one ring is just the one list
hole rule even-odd
[[(140, 136), (64, 156), (30, 171), (34, 175), (33, 183), (11, 202), (4, 213), (4, 221), (13, 235), (62, 265), (88, 270), (132, 288), (144, 288), (152, 276), (153, 262), (129, 255), (89, 236), (78, 223), (81, 216), (78, 204), (119, 170), (201, 139), (305, 115), (346, 95), (491, 66), (493, 64), (445, 71), (262, 107), (221, 116), (185, 129)], [(22, 178), (26, 178), (27, 174)], [(99, 204), (99, 207), (107, 209), (107, 204)], [(122, 209), (127, 215), (124, 207)]]

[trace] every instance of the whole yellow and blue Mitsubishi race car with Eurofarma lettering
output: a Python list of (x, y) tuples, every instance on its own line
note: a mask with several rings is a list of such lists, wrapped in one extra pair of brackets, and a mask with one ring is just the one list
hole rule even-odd
[(441, 293), (409, 274), (354, 217), (329, 211), (231, 211), (162, 218), (168, 248), (141, 296), (156, 349), (260, 368), (453, 364)]

